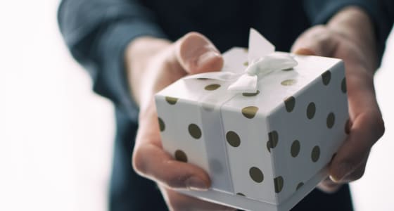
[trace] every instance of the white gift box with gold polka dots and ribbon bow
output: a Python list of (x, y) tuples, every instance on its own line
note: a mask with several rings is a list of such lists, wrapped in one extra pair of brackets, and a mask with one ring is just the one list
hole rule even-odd
[(343, 61), (275, 52), (250, 30), (249, 49), (220, 72), (184, 77), (155, 95), (165, 151), (210, 175), (182, 190), (243, 210), (290, 210), (328, 176), (346, 137)]

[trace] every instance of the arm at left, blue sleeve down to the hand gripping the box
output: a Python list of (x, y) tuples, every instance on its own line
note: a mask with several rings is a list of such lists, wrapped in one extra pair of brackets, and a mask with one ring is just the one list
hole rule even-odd
[[(94, 91), (138, 119), (134, 168), (158, 183), (170, 209), (225, 210), (171, 189), (202, 190), (210, 179), (200, 168), (165, 153), (153, 103), (153, 94), (179, 77), (219, 70), (222, 57), (201, 34), (191, 33), (175, 43), (163, 39), (154, 15), (136, 2), (63, 0), (58, 12), (63, 37), (72, 56), (89, 70)], [(193, 54), (191, 49), (199, 51)]]

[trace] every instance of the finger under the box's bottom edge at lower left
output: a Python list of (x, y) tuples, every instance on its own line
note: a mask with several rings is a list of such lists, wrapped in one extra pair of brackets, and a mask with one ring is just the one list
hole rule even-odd
[(170, 210), (235, 210), (231, 207), (225, 207), (223, 205), (217, 205), (208, 201), (199, 200), (198, 198), (186, 196), (163, 186), (160, 186), (160, 190)]

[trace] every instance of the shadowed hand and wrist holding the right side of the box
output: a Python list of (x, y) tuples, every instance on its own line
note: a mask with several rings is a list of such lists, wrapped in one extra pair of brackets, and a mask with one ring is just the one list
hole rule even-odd
[(374, 27), (367, 14), (348, 7), (327, 25), (312, 27), (301, 34), (292, 51), (341, 58), (345, 62), (350, 134), (331, 160), (330, 177), (319, 184), (323, 191), (336, 191), (340, 184), (362, 177), (369, 151), (384, 133), (374, 91), (378, 63)]

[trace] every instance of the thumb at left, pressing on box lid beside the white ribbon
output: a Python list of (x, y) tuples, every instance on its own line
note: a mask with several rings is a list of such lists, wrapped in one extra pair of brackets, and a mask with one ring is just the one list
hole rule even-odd
[(219, 71), (223, 58), (212, 42), (197, 32), (189, 32), (175, 44), (177, 60), (189, 74)]

